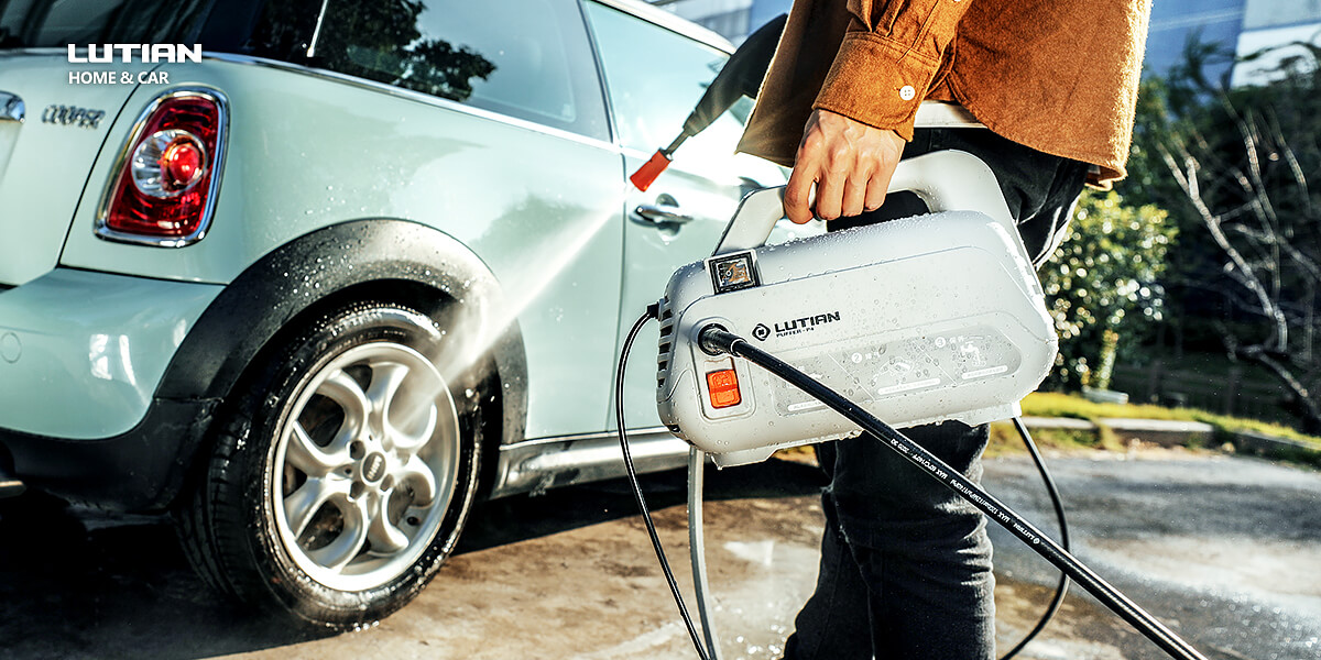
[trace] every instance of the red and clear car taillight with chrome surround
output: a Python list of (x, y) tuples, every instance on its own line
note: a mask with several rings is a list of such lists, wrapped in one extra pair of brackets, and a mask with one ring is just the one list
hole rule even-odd
[(174, 90), (135, 124), (98, 215), (110, 240), (180, 247), (210, 222), (225, 153), (225, 98)]

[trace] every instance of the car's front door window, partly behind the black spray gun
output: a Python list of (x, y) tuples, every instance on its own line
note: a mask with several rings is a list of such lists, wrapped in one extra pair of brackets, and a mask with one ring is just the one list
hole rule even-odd
[[(618, 9), (588, 3), (587, 11), (620, 144), (646, 153), (668, 145), (728, 55)], [(737, 103), (679, 154), (691, 162), (728, 160), (750, 108), (748, 99)]]

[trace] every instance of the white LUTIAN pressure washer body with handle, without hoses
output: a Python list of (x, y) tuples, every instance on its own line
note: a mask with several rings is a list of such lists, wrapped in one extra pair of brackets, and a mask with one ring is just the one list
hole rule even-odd
[(815, 399), (697, 339), (717, 325), (902, 428), (1018, 414), (1057, 338), (995, 174), (963, 152), (902, 161), (926, 215), (778, 246), (783, 189), (748, 195), (715, 256), (660, 301), (660, 420), (719, 466), (859, 433)]

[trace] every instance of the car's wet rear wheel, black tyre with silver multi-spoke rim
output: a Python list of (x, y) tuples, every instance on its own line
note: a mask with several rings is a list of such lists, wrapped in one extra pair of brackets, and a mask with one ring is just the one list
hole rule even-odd
[(421, 591), (464, 528), (494, 400), (445, 339), (416, 309), (370, 302), (254, 360), (176, 507), (206, 582), (336, 630)]

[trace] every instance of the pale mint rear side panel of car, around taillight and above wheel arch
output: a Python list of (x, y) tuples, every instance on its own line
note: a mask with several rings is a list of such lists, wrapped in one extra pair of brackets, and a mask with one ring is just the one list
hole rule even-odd
[[(71, 232), (65, 265), (226, 284), (320, 227), (420, 222), (481, 255), (506, 292), (506, 322), (523, 327), (530, 381), (546, 384), (528, 395), (527, 433), (601, 430), (622, 263), (614, 147), (273, 63), (206, 59), (170, 66), (170, 81), (230, 98), (226, 170), (206, 238), (178, 249), (107, 243), (90, 231), (96, 201), (85, 195), (75, 227), (87, 231)], [(128, 108), (168, 88), (144, 86)], [(128, 115), (112, 141), (125, 139)], [(92, 182), (112, 177), (111, 152)], [(324, 267), (337, 267), (334, 255)], [(291, 296), (322, 293), (299, 284), (289, 282)]]

